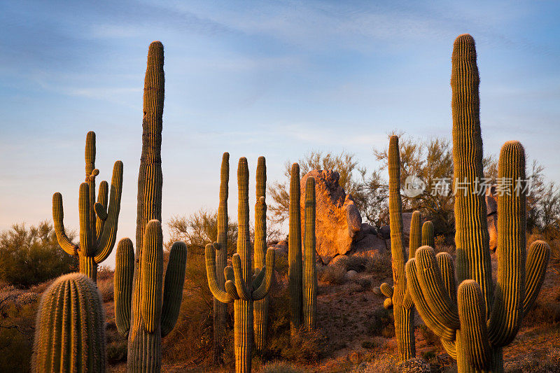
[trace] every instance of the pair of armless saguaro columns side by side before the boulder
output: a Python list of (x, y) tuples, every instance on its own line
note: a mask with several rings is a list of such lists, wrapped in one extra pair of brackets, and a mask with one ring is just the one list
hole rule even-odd
[[(315, 253), (315, 178), (305, 184), (305, 242), (302, 252), (300, 165), (290, 170), (290, 216), (288, 234), (288, 293), (290, 297), (290, 333), (304, 325), (312, 330), (316, 325), (317, 274)], [(304, 257), (304, 262), (302, 261)]]

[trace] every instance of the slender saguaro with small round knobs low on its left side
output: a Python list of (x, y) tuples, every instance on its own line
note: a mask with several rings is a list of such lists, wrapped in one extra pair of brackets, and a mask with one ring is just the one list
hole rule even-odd
[[(395, 335), (400, 360), (416, 356), (414, 339), (414, 304), (407, 291), (405, 276), (405, 248), (402, 245), (402, 201), (400, 199), (400, 154), (398, 136), (391, 136), (388, 150), (389, 226), (391, 228), (391, 257), (393, 286), (381, 283), (379, 289), (386, 296), (383, 306), (393, 308)], [(410, 225), (409, 258), (420, 244), (420, 212), (414, 211)]]

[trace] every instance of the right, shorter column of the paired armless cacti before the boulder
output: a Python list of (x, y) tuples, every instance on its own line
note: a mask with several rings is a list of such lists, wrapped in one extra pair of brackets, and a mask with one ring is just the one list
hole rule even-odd
[(303, 324), (307, 330), (316, 327), (317, 272), (315, 252), (315, 178), (305, 182), (305, 245), (303, 272)]

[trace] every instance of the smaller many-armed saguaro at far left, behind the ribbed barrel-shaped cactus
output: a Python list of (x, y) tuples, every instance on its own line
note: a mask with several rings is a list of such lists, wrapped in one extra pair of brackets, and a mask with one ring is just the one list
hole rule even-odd
[(118, 160), (113, 166), (111, 179), (111, 196), (109, 209), (107, 197), (109, 184), (99, 184), (99, 194), (95, 202), (95, 132), (85, 136), (85, 182), (80, 184), (78, 211), (80, 213), (80, 244), (73, 244), (64, 231), (64, 209), (62, 195), (52, 195), (52, 220), (55, 225), (57, 241), (60, 247), (70, 255), (78, 256), (80, 272), (97, 281), (97, 265), (111, 254), (117, 238), (120, 196), (123, 190), (123, 162)]

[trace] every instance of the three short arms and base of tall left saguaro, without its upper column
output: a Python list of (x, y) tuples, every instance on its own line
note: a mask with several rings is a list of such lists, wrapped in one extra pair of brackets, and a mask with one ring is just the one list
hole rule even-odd
[(119, 241), (115, 268), (115, 315), (118, 331), (128, 337), (128, 372), (160, 372), (161, 339), (179, 317), (187, 246), (176, 242), (169, 253), (163, 281), (163, 234), (159, 220), (150, 220), (143, 247), (134, 260), (132, 241)]

